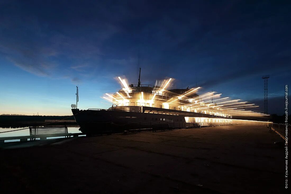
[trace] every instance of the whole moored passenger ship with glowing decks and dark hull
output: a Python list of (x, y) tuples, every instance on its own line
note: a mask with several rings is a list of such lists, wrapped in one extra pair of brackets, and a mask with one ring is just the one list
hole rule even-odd
[[(197, 90), (200, 87), (167, 89), (171, 78), (162, 86), (141, 84), (140, 79), (138, 84), (127, 84), (124, 79), (118, 78), (124, 87), (115, 94), (106, 93), (107, 97), (103, 97), (112, 103), (108, 109), (79, 110), (72, 105), (72, 113), (82, 133), (122, 132), (153, 126), (185, 128), (232, 123), (232, 115), (220, 110), (223, 105), (214, 103), (226, 99), (213, 100), (213, 97), (220, 94), (208, 92), (199, 96)], [(221, 103), (231, 101), (237, 102), (230, 100)]]

